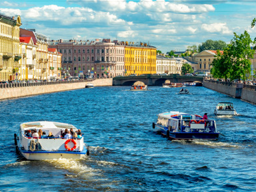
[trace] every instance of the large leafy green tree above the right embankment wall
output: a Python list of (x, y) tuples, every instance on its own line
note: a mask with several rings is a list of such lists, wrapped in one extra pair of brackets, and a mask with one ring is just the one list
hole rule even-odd
[(247, 31), (241, 35), (234, 35), (231, 43), (223, 50), (223, 54), (217, 51), (217, 56), (212, 62), (211, 74), (215, 78), (245, 80), (245, 74), (251, 69), (249, 58), (253, 58), (254, 50), (251, 49), (251, 44), (255, 45), (255, 41), (251, 40)]

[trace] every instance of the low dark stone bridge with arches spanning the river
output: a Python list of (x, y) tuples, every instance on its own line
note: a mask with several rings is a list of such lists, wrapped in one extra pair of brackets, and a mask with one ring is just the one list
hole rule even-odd
[(143, 76), (117, 76), (113, 78), (113, 86), (131, 86), (137, 81), (144, 82), (148, 86), (162, 86), (165, 80), (171, 82), (203, 82), (201, 76), (179, 76), (170, 74), (167, 76), (145, 74)]

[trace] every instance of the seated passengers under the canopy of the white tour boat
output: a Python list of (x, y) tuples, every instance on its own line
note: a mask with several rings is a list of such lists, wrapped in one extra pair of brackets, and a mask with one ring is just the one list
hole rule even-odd
[[(45, 132), (43, 132), (41, 129), (38, 130), (26, 130), (25, 131), (25, 136), (27, 138), (55, 138), (55, 136), (53, 136), (52, 132), (49, 132), (48, 136)], [(73, 131), (73, 128), (71, 128), (70, 130), (65, 129), (65, 131), (62, 133), (61, 131), (61, 136), (59, 136), (59, 138), (64, 138), (64, 139), (81, 139), (82, 133), (81, 130), (77, 130), (76, 132)]]

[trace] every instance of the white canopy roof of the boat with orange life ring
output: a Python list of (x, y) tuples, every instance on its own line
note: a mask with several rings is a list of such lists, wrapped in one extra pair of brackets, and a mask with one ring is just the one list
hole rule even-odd
[(32, 129), (71, 129), (77, 130), (71, 124), (63, 124), (58, 122), (27, 122), (21, 124), (21, 129), (23, 130), (32, 130)]

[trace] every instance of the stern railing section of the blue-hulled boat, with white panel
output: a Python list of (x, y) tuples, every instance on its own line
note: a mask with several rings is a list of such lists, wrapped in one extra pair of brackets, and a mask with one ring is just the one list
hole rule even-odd
[(181, 120), (181, 125), (181, 132), (217, 132), (215, 120)]

